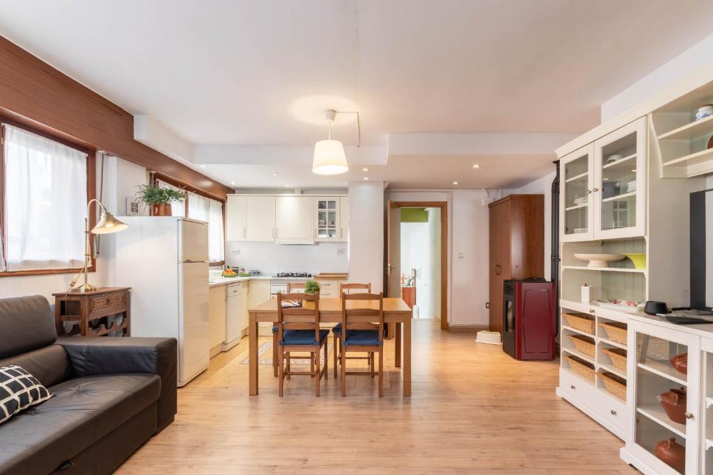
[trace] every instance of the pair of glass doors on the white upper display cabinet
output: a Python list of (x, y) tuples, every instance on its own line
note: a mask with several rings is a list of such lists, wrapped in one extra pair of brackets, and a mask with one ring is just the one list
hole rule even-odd
[(563, 241), (644, 235), (646, 118), (560, 160)]

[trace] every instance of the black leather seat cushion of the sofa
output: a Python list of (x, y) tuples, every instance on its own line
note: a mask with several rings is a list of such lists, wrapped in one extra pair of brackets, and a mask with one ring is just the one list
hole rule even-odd
[(151, 374), (78, 377), (0, 427), (0, 473), (46, 474), (158, 399)]

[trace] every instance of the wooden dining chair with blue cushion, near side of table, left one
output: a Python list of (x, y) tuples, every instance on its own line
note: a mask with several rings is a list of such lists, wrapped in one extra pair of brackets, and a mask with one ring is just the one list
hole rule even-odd
[[(282, 397), (284, 378), (292, 375), (314, 377), (314, 395), (319, 397), (319, 382), (328, 377), (327, 335), (329, 330), (319, 328), (319, 294), (314, 294), (314, 308), (297, 306), (306, 301), (306, 293), (277, 294), (277, 345), (279, 367), (279, 397)], [(285, 306), (283, 306), (283, 303)], [(289, 306), (294, 303), (294, 306)], [(320, 369), (319, 352), (324, 348), (324, 367)], [(292, 371), (289, 354), (307, 352), (310, 358), (309, 371)]]

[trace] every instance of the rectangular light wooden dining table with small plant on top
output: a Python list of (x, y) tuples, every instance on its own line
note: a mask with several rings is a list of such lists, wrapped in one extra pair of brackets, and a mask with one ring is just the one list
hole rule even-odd
[[(347, 301), (347, 308), (378, 308), (375, 301)], [(248, 309), (250, 315), (247, 332), (250, 338), (250, 389), (251, 396), (257, 395), (257, 324), (270, 322), (277, 324), (277, 299), (260, 303)], [(411, 319), (413, 311), (401, 298), (384, 298), (384, 323), (395, 323), (394, 365), (401, 367), (403, 350), (404, 396), (411, 396)], [(339, 298), (319, 299), (319, 323), (339, 323), (342, 321), (342, 300)], [(403, 328), (403, 335), (401, 330)], [(402, 344), (403, 342), (403, 344)], [(334, 348), (332, 351), (337, 351)]]

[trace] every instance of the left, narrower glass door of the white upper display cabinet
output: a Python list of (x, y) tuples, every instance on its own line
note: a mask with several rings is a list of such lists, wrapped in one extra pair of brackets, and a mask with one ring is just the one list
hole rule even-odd
[(560, 159), (560, 237), (563, 242), (594, 239), (594, 145)]

